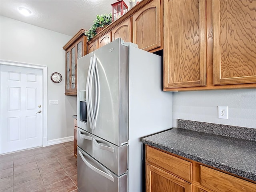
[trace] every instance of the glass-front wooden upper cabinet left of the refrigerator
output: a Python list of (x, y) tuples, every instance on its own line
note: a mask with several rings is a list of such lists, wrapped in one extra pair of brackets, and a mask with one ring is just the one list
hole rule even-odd
[(86, 54), (86, 36), (81, 29), (63, 49), (66, 51), (65, 64), (65, 95), (76, 95), (76, 66), (77, 60)]

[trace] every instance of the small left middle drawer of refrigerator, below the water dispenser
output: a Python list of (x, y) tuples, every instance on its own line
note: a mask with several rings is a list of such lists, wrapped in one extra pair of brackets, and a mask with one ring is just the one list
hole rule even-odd
[(80, 128), (77, 129), (77, 145), (91, 156), (93, 141), (92, 138), (92, 134), (90, 134), (89, 132), (82, 130)]

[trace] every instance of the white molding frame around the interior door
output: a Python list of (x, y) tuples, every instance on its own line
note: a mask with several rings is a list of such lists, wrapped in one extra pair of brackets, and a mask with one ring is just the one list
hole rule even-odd
[(43, 137), (42, 138), (42, 142), (43, 142), (42, 146), (43, 147), (47, 146), (47, 66), (0, 59), (0, 69), (1, 69), (2, 65), (18, 66), (18, 67), (26, 67), (26, 68), (42, 70), (42, 88), (43, 88), (43, 90), (42, 90), (42, 99), (43, 99), (42, 108), (44, 109), (42, 112), (42, 137)]

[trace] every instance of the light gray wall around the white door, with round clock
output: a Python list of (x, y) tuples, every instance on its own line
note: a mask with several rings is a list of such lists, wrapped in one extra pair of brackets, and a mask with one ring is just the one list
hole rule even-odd
[[(48, 66), (47, 139), (74, 135), (72, 115), (76, 114), (76, 96), (65, 96), (65, 51), (62, 47), (72, 38), (58, 32), (0, 17), (0, 58)], [(62, 74), (60, 83), (53, 83), (50, 75)]]

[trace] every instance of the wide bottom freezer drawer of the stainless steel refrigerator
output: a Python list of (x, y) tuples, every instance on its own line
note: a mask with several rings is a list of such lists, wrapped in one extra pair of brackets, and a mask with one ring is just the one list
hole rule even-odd
[(127, 192), (127, 173), (116, 176), (79, 147), (77, 164), (81, 192)]

